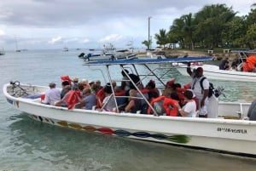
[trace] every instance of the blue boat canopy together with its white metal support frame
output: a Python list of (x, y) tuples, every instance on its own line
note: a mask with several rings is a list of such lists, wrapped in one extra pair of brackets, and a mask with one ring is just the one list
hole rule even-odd
[[(133, 98), (133, 99), (143, 99), (148, 107), (153, 111), (154, 115), (158, 116), (157, 112), (155, 111), (154, 107), (149, 103), (148, 99), (143, 95), (143, 92), (138, 88), (137, 86), (139, 84), (145, 85), (145, 83), (148, 83), (150, 79), (154, 80), (157, 84), (158, 89), (164, 89), (166, 88), (166, 81), (163, 79), (163, 77), (168, 77), (168, 73), (170, 71), (172, 72), (173, 68), (178, 63), (186, 63), (186, 62), (201, 62), (201, 61), (207, 61), (212, 60), (212, 57), (185, 57), (185, 58), (169, 58), (169, 59), (145, 59), (145, 60), (96, 60), (96, 61), (89, 61), (84, 64), (84, 66), (100, 66), (100, 70), (102, 72), (102, 77), (107, 76), (108, 77), (108, 83), (110, 84), (110, 87), (112, 89), (112, 92), (114, 92), (114, 88), (112, 83), (113, 82), (128, 82), (131, 87), (137, 90), (137, 93), (140, 94), (140, 97), (131, 97), (130, 95), (124, 95), (119, 96), (112, 94), (115, 106), (117, 111), (119, 111), (119, 105), (117, 103), (117, 100), (119, 98)], [(152, 64), (159, 64), (155, 65), (155, 67), (151, 67)], [(161, 65), (161, 64), (169, 64)], [(120, 71), (123, 71), (126, 77), (126, 80), (114, 78), (113, 75), (110, 73), (111, 68), (116, 71), (118, 68), (115, 66), (120, 67)], [(138, 71), (138, 66), (142, 66), (144, 68), (144, 72)], [(173, 67), (174, 66), (174, 67)], [(106, 69), (105, 71), (104, 68)], [(127, 72), (126, 70), (129, 70)], [(133, 79), (134, 77), (131, 76), (137, 76), (138, 80)], [(110, 98), (109, 98), (110, 100)], [(108, 103), (108, 102), (107, 102)], [(106, 103), (106, 104), (107, 104)], [(105, 105), (106, 105), (105, 104)], [(102, 106), (102, 109), (104, 106)]]

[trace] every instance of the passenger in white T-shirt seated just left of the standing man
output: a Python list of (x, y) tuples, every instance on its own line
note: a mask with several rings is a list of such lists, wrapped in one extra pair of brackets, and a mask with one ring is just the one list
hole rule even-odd
[(185, 105), (181, 108), (180, 105), (177, 103), (177, 108), (179, 111), (179, 114), (182, 117), (195, 117), (196, 116), (196, 104), (195, 100), (193, 100), (193, 93), (190, 90), (186, 90), (184, 92), (185, 97)]

